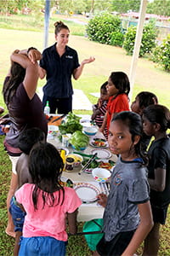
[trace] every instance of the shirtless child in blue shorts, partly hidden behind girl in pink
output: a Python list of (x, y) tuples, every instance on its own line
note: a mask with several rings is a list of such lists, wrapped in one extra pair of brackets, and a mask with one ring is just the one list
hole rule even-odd
[[(16, 164), (16, 174), (18, 177), (18, 189), (25, 183), (31, 183), (31, 174), (28, 169), (28, 157), (33, 145), (37, 142), (45, 141), (45, 133), (39, 128), (30, 128), (22, 131), (19, 137), (19, 148), (23, 152), (20, 155)], [(14, 196), (10, 201), (9, 212), (13, 218), (15, 243), (14, 256), (17, 256), (20, 249), (20, 236), (22, 236), (22, 229), (26, 212), (23, 212), (19, 206), (16, 205)]]

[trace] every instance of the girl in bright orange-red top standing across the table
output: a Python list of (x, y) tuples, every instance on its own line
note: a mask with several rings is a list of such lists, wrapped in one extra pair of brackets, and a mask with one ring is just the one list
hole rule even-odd
[[(126, 73), (112, 72), (106, 85), (107, 92), (110, 96), (107, 104), (107, 111), (103, 124), (99, 131), (105, 131), (105, 127), (109, 130), (111, 119), (116, 113), (129, 111), (128, 93), (130, 91), (130, 83)], [(104, 134), (108, 137), (108, 132)]]

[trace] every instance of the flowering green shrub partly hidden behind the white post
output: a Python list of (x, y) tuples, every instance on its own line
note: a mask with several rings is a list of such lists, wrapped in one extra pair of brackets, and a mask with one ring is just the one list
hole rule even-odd
[[(125, 34), (123, 48), (126, 49), (128, 55), (133, 55), (134, 42), (136, 37), (136, 26), (130, 26)], [(156, 26), (152, 20), (144, 25), (142, 41), (140, 44), (139, 56), (150, 53), (156, 47)]]

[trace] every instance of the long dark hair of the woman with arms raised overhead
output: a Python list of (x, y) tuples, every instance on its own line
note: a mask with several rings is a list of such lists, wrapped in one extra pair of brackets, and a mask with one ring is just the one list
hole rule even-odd
[(20, 64), (12, 61), (10, 69), (10, 77), (7, 82), (3, 84), (3, 99), (8, 104), (11, 102), (12, 97), (20, 83), (23, 82), (26, 76), (26, 69), (21, 67)]

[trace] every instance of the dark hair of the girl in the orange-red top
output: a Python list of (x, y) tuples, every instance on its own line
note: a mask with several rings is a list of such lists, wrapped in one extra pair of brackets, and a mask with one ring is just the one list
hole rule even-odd
[(125, 93), (128, 95), (130, 91), (130, 82), (126, 73), (123, 72), (112, 72), (110, 76), (111, 82), (115, 85), (116, 89), (119, 90), (118, 94)]

